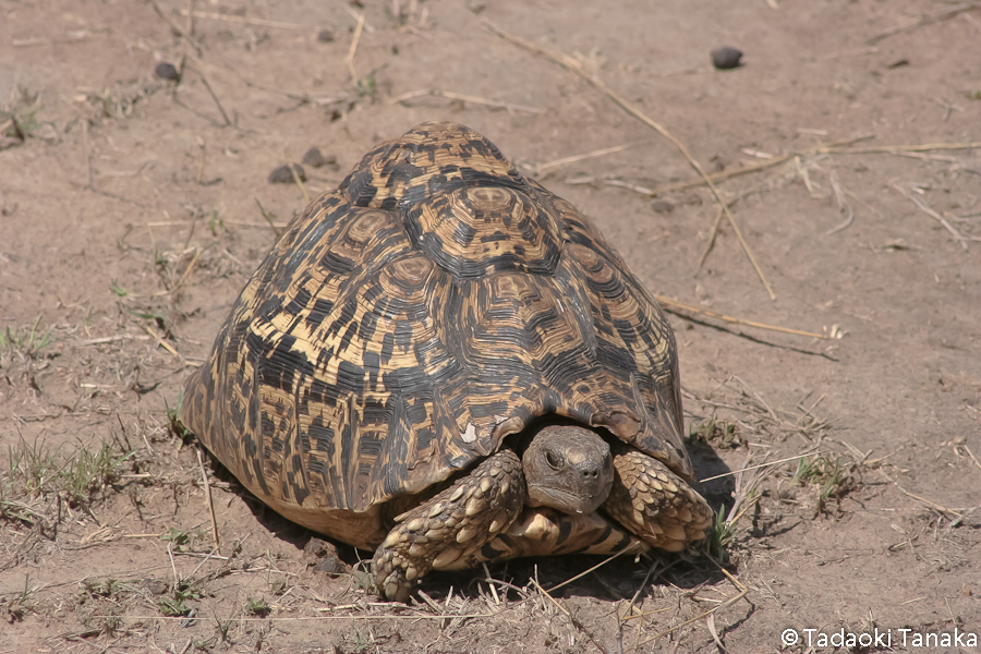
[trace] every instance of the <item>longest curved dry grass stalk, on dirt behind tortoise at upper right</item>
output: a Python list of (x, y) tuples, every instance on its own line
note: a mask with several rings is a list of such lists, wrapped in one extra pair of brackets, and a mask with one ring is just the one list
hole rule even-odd
[(583, 80), (585, 80), (586, 82), (592, 84), (597, 90), (605, 94), (606, 97), (608, 97), (610, 100), (613, 100), (614, 104), (616, 104), (618, 107), (620, 107), (623, 111), (626, 111), (633, 118), (638, 119), (639, 121), (641, 121), (642, 123), (644, 123), (645, 125), (647, 125), (649, 128), (651, 128), (652, 130), (654, 130), (655, 132), (657, 132), (658, 134), (661, 134), (662, 136), (667, 138), (668, 141), (670, 141), (675, 145), (675, 147), (678, 148), (678, 150), (685, 156), (685, 159), (688, 161), (688, 164), (692, 168), (694, 168), (695, 172), (699, 173), (699, 177), (702, 178), (702, 180), (704, 181), (704, 184), (706, 186), (708, 186), (708, 190), (712, 191), (712, 194), (715, 196), (716, 202), (722, 206), (722, 209), (726, 215), (726, 219), (729, 221), (729, 225), (732, 227), (732, 231), (736, 233), (736, 238), (739, 239), (739, 244), (742, 246), (742, 251), (746, 253), (746, 256), (749, 258), (750, 264), (752, 264), (753, 269), (756, 271), (756, 276), (759, 276), (759, 278), (760, 278), (760, 281), (763, 282), (763, 287), (766, 289), (766, 293), (770, 295), (771, 300), (776, 300), (776, 294), (773, 292), (773, 288), (771, 288), (770, 282), (766, 281), (766, 276), (763, 275), (763, 269), (760, 268), (760, 264), (756, 263), (756, 257), (753, 255), (753, 252), (750, 249), (749, 243), (746, 241), (746, 238), (742, 235), (742, 230), (739, 229), (739, 226), (736, 223), (736, 219), (732, 217), (732, 214), (729, 211), (729, 207), (726, 206), (725, 201), (722, 198), (722, 195), (719, 195), (718, 189), (715, 187), (715, 184), (712, 183), (712, 180), (705, 173), (704, 169), (702, 169), (702, 165), (699, 164), (699, 161), (694, 157), (691, 156), (691, 153), (688, 152), (688, 147), (679, 138), (677, 138), (674, 134), (668, 132), (667, 129), (665, 129), (662, 124), (659, 124), (659, 123), (655, 122), (654, 120), (652, 120), (651, 118), (649, 118), (644, 112), (642, 112), (640, 109), (634, 107), (633, 104), (631, 104), (626, 98), (623, 98), (623, 96), (621, 96), (620, 94), (618, 94), (617, 92), (611, 89), (609, 86), (607, 86), (606, 83), (603, 82), (603, 80), (601, 80), (597, 75), (588, 73), (583, 69), (582, 63), (579, 62), (578, 60), (576, 60), (571, 57), (568, 57), (566, 55), (561, 55), (558, 52), (552, 52), (552, 51), (546, 50), (545, 48), (537, 46), (537, 45), (535, 45), (529, 40), (525, 40), (521, 37), (513, 36), (511, 34), (502, 32), (488, 21), (484, 21), (484, 24), (487, 26), (487, 28), (492, 33), (496, 34), (497, 36), (499, 36), (506, 40), (509, 40), (509, 41), (524, 48), (525, 50), (529, 50), (536, 55), (542, 55), (544, 57), (547, 57), (548, 59), (552, 59), (553, 61), (555, 61), (556, 63), (558, 63), (566, 70), (568, 70), (569, 72), (581, 76)]

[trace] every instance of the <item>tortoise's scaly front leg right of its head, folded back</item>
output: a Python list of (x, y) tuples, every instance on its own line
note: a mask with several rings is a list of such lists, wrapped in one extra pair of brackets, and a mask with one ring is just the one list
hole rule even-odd
[(606, 513), (654, 547), (680, 552), (705, 537), (712, 509), (664, 463), (629, 446), (613, 447), (614, 477)]

